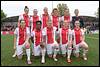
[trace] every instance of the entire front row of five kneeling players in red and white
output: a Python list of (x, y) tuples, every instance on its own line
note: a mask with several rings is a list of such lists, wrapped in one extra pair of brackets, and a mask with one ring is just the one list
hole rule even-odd
[[(31, 37), (29, 29), (25, 27), (25, 21), (20, 21), (19, 28), (15, 30), (15, 42), (14, 49), (15, 55), (18, 58), (22, 58), (23, 48), (26, 48), (27, 63), (31, 64), (30, 60), (30, 43), (29, 38), (32, 41), (32, 54), (34, 56), (42, 56), (41, 63), (45, 63), (45, 55), (47, 52), (48, 57), (54, 61), (58, 61), (57, 54), (61, 51), (61, 54), (66, 57), (67, 62), (71, 62), (71, 54), (74, 53), (76, 57), (79, 57), (79, 50), (83, 48), (83, 59), (87, 60), (88, 45), (84, 41), (84, 31), (80, 28), (79, 21), (75, 22), (75, 28), (69, 29), (67, 21), (63, 22), (61, 28), (54, 27), (52, 21), (47, 22), (45, 28), (41, 28), (41, 21), (36, 22), (36, 28), (31, 31)], [(59, 43), (58, 43), (59, 40)], [(73, 51), (72, 51), (73, 50)]]

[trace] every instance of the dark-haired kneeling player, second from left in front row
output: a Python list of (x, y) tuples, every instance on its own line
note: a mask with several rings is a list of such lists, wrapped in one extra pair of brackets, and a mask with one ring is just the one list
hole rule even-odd
[(45, 45), (43, 43), (42, 38), (42, 29), (41, 29), (42, 22), (36, 21), (36, 28), (31, 32), (32, 39), (34, 41), (33, 52), (34, 56), (40, 56), (42, 54), (41, 63), (45, 63)]

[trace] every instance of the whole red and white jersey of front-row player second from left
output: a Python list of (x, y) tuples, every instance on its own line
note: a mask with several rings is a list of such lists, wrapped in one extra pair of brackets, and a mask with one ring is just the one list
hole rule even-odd
[(35, 46), (40, 45), (40, 43), (42, 42), (42, 31), (34, 29), (31, 32), (31, 36), (34, 39)]

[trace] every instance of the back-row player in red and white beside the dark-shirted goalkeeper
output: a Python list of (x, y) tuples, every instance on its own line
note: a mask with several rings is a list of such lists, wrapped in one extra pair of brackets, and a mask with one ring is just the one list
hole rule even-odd
[(61, 17), (61, 20), (64, 22), (65, 20), (67, 21), (68, 23), (68, 26), (70, 28), (70, 22), (72, 21), (72, 17), (69, 13), (69, 9), (65, 9), (64, 10), (64, 16)]

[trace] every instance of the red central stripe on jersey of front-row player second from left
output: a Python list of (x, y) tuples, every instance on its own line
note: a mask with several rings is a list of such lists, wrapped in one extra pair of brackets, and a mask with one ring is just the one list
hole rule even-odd
[(35, 29), (35, 45), (36, 46), (40, 45), (41, 41), (42, 41), (42, 32), (41, 30)]

